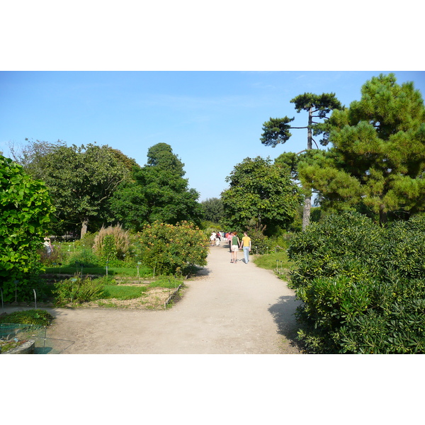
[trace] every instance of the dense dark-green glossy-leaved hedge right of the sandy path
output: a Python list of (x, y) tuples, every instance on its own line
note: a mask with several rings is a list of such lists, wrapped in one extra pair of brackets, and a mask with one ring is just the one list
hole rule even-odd
[(425, 217), (382, 228), (331, 216), (297, 234), (288, 254), (310, 352), (425, 352)]

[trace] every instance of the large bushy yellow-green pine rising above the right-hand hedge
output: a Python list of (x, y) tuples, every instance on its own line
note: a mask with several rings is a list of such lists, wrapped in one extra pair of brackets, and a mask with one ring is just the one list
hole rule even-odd
[(334, 210), (363, 208), (387, 222), (390, 211), (425, 208), (425, 108), (412, 82), (380, 74), (361, 89), (361, 100), (329, 119), (333, 147), (300, 179)]

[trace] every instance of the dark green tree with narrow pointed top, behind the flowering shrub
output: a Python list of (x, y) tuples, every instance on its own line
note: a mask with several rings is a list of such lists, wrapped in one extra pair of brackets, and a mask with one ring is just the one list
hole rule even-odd
[(183, 220), (200, 223), (202, 207), (198, 192), (183, 179), (183, 163), (166, 143), (149, 148), (147, 164), (136, 171), (134, 181), (123, 183), (111, 198), (115, 220), (139, 231), (155, 221), (176, 224)]

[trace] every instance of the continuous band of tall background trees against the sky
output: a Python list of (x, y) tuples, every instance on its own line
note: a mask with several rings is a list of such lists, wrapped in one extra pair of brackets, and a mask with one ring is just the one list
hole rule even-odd
[(293, 127), (288, 116), (270, 118), (260, 142), (275, 148), (290, 139), (290, 130), (304, 129), (306, 149), (283, 152), (274, 162), (244, 159), (225, 179), (229, 188), (220, 198), (202, 202), (164, 142), (149, 147), (144, 166), (96, 142), (26, 139), (21, 149), (11, 146), (11, 154), (26, 174), (45, 183), (54, 207), (52, 234), (79, 227), (83, 237), (118, 223), (137, 232), (155, 221), (201, 226), (205, 220), (271, 234), (300, 217), (304, 230), (313, 194), (324, 212), (356, 210), (380, 225), (424, 211), (425, 109), (412, 82), (399, 85), (394, 74), (380, 74), (348, 107), (334, 93), (300, 94), (290, 103), (307, 113), (306, 125)]

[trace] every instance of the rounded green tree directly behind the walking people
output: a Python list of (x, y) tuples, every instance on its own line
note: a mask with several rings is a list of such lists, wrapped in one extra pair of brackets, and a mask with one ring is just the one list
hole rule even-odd
[(273, 232), (293, 222), (300, 194), (290, 174), (271, 159), (246, 158), (234, 166), (222, 192), (226, 225)]

